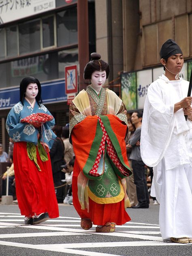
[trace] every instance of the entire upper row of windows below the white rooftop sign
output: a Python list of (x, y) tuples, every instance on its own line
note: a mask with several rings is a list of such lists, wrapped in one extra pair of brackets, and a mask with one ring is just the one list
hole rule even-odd
[[(59, 6), (62, 3), (58, 1)], [(77, 43), (77, 6), (73, 6), (50, 16), (0, 28), (0, 60)]]

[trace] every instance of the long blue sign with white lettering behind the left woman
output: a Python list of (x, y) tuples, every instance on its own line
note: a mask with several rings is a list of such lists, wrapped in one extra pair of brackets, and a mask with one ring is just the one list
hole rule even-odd
[[(65, 80), (41, 83), (41, 96), (44, 104), (67, 101)], [(0, 90), (0, 110), (11, 109), (19, 102), (19, 87)]]

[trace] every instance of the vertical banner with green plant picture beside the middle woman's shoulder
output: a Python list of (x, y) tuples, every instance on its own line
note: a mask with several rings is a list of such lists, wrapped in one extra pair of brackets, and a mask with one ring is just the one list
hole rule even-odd
[(126, 109), (137, 109), (136, 72), (121, 75), (122, 101)]

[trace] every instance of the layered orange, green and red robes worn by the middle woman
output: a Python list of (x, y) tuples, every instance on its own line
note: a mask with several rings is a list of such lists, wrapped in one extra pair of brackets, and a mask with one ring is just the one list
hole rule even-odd
[[(102, 88), (97, 95), (88, 86), (70, 105), (70, 138), (75, 152), (73, 204), (81, 218), (96, 225), (122, 225), (130, 220), (125, 211), (129, 200), (124, 178), (131, 174), (124, 141), (126, 123), (124, 104), (111, 90)], [(103, 154), (98, 154), (102, 145)]]

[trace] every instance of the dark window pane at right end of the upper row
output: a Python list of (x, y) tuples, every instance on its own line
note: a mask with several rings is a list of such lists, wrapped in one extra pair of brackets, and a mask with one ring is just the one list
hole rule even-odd
[(56, 15), (58, 47), (77, 43), (77, 8), (73, 7)]

